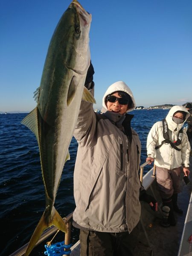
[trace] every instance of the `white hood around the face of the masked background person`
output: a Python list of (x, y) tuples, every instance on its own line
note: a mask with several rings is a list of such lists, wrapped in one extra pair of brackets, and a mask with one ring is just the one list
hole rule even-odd
[[(185, 120), (181, 123), (181, 124), (176, 124), (174, 121), (173, 121), (173, 115), (175, 112), (177, 111), (183, 111), (186, 113), (186, 116), (185, 116)], [(184, 108), (183, 106), (173, 106), (170, 110), (169, 110), (169, 113), (167, 114), (166, 116), (166, 121), (168, 123), (168, 127), (169, 127), (169, 130), (171, 131), (174, 131), (176, 128), (178, 130), (181, 129), (181, 127), (184, 125), (184, 122), (186, 121), (186, 119), (190, 116), (190, 113), (186, 110), (186, 108)]]

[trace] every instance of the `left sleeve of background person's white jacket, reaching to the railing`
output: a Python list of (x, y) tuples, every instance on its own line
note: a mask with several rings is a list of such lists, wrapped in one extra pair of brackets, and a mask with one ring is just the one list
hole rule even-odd
[(155, 146), (159, 138), (158, 133), (158, 126), (157, 123), (155, 123), (151, 130), (149, 131), (148, 137), (147, 137), (147, 155), (148, 157), (154, 158), (155, 155)]

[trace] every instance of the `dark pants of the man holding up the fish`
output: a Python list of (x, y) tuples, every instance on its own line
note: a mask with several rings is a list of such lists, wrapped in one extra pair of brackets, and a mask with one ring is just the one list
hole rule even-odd
[(134, 256), (137, 244), (133, 233), (80, 231), (81, 256)]

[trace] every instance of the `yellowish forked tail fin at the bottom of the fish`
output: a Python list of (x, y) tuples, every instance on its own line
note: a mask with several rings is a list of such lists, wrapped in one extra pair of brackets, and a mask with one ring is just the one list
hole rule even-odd
[(48, 221), (48, 222), (46, 221), (46, 211), (42, 215), (37, 227), (35, 228), (34, 233), (32, 234), (32, 237), (29, 241), (29, 244), (28, 244), (26, 252), (25, 252), (25, 256), (28, 256), (31, 253), (32, 249), (35, 247), (35, 244), (40, 239), (44, 230), (46, 230), (48, 227), (51, 227), (52, 225), (57, 227), (59, 230), (67, 233), (67, 226), (66, 226), (64, 220), (59, 215), (59, 213), (56, 211), (55, 207), (53, 207), (53, 209), (52, 209), (52, 218), (50, 221)]

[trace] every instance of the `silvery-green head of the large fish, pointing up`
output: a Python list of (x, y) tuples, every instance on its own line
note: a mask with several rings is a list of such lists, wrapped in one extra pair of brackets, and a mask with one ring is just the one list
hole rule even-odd
[(66, 65), (76, 73), (84, 75), (90, 65), (89, 31), (92, 17), (76, 0), (70, 4), (68, 12), (70, 44), (67, 44)]

